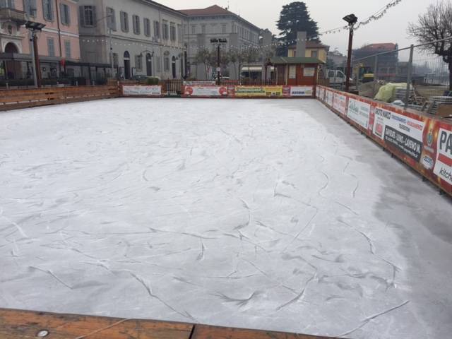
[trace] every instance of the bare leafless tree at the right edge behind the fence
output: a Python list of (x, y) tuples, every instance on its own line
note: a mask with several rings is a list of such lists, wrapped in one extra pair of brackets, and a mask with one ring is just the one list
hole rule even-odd
[[(449, 69), (449, 90), (452, 90), (452, 3), (442, 1), (431, 4), (427, 13), (421, 14), (417, 23), (410, 23), (408, 33), (416, 37), (426, 49), (443, 58)], [(451, 38), (450, 40), (444, 40)], [(442, 41), (438, 41), (442, 40)]]

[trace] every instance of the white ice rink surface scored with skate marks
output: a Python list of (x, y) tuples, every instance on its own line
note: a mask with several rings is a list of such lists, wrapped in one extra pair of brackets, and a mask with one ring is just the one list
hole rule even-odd
[(0, 113), (0, 307), (450, 338), (452, 203), (316, 100)]

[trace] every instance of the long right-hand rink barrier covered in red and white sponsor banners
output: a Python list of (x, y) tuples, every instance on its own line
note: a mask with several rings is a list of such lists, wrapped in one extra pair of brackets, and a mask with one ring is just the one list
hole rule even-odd
[(452, 196), (452, 121), (324, 86), (316, 98)]

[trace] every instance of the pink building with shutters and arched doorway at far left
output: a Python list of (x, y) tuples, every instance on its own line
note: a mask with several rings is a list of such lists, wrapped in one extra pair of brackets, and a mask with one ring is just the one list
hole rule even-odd
[(76, 0), (0, 0), (0, 78), (32, 79), (30, 32), (26, 21), (45, 25), (37, 33), (42, 78), (80, 73)]

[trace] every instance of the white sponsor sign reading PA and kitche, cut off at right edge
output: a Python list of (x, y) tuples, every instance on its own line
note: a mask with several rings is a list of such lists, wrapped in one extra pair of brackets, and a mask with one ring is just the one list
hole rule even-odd
[(452, 184), (452, 131), (439, 129), (434, 174)]

